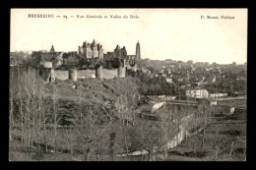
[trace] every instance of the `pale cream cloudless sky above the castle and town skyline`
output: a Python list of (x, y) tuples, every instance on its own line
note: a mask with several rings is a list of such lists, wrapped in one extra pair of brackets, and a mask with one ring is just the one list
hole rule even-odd
[[(29, 18), (32, 14), (53, 18)], [(10, 51), (50, 50), (51, 45), (55, 51), (77, 51), (96, 39), (104, 53), (118, 44), (134, 55), (139, 41), (143, 59), (244, 64), (247, 9), (11, 9), (10, 39)]]

